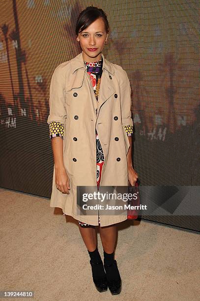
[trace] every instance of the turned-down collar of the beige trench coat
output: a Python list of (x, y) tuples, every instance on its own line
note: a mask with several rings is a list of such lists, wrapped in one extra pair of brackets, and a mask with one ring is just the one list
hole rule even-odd
[[(106, 69), (109, 73), (114, 75), (114, 67), (112, 63), (110, 63), (108, 60), (104, 58), (104, 55), (102, 55), (103, 58), (103, 69)], [(71, 72), (74, 73), (77, 69), (79, 68), (84, 68), (86, 69), (86, 66), (84, 64), (84, 59), (83, 59), (83, 51), (78, 54), (75, 58), (70, 60), (70, 65), (71, 65)]]

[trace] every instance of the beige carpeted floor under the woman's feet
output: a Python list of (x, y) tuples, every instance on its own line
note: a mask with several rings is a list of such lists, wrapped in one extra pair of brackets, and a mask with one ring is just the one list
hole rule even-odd
[[(112, 296), (96, 291), (72, 218), (54, 214), (49, 199), (11, 190), (0, 189), (0, 203), (0, 290), (32, 290), (37, 301), (200, 300), (196, 232), (148, 221), (119, 224), (115, 259), (122, 291)], [(98, 241), (103, 255), (99, 234)]]

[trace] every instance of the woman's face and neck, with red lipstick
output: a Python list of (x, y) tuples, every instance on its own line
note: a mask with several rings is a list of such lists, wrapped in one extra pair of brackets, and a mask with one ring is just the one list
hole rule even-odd
[[(98, 18), (77, 36), (83, 50), (83, 59), (94, 62), (101, 59), (101, 51), (107, 41), (105, 23), (102, 18)], [(93, 51), (92, 51), (93, 50)]]

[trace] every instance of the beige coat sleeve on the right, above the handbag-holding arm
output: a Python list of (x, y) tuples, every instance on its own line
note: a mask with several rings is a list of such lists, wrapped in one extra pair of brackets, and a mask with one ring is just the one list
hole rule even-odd
[(123, 126), (133, 126), (131, 116), (131, 86), (127, 73), (120, 67), (120, 97), (121, 97), (121, 115)]

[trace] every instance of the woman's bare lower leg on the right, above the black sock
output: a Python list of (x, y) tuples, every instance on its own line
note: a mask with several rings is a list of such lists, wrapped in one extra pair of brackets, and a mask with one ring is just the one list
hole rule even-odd
[(99, 234), (104, 251), (109, 254), (113, 253), (117, 234), (116, 224), (99, 227)]

